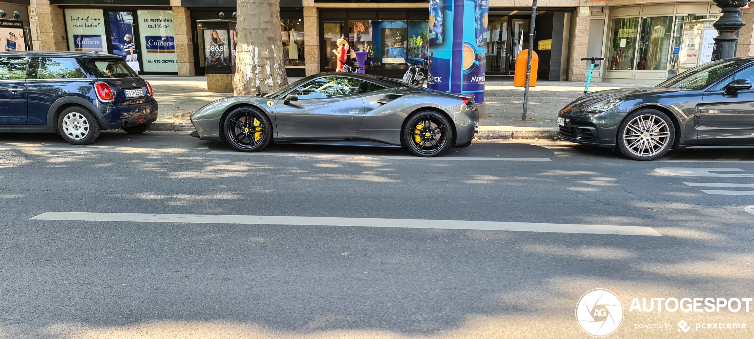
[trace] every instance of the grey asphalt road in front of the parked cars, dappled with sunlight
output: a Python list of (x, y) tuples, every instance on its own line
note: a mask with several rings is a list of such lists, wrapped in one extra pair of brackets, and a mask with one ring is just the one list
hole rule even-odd
[[(0, 136), (0, 337), (590, 337), (575, 308), (591, 289), (621, 298), (610, 337), (754, 337), (754, 302), (751, 312), (629, 311), (633, 298), (754, 296), (754, 195), (740, 193), (754, 191), (754, 151), (639, 162), (568, 142), (497, 141), (438, 159), (303, 145), (241, 154), (171, 132), (105, 132), (71, 148), (57, 136)], [(29, 219), (45, 212), (84, 220)], [(419, 228), (431, 220), (525, 231)], [(543, 231), (552, 223), (573, 231)], [(676, 330), (682, 319), (688, 333)], [(749, 327), (693, 328), (708, 321)], [(671, 327), (639, 328), (656, 322)]]

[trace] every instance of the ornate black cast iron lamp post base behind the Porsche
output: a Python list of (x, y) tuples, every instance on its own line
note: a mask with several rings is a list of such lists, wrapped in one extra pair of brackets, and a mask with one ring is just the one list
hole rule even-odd
[(741, 10), (749, 0), (715, 0), (715, 5), (722, 8), (722, 15), (712, 24), (717, 29), (718, 35), (714, 38), (715, 45), (712, 52), (712, 60), (732, 58), (736, 56), (738, 46), (738, 32), (746, 23), (741, 21)]

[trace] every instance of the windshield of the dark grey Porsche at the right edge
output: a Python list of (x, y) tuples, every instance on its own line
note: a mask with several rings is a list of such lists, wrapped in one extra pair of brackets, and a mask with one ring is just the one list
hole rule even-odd
[(678, 88), (681, 90), (703, 90), (718, 79), (734, 72), (749, 60), (717, 60), (694, 67), (668, 79), (657, 87)]

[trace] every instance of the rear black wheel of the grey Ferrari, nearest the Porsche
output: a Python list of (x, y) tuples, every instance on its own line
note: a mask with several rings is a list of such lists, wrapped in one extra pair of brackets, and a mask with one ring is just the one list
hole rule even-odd
[(403, 142), (411, 153), (419, 157), (443, 154), (452, 139), (450, 122), (436, 111), (421, 111), (413, 115), (403, 128)]

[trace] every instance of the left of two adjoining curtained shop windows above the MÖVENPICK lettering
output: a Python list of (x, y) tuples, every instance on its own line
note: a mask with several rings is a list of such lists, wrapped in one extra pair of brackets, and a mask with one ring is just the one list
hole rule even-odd
[(638, 17), (612, 20), (609, 69), (633, 70), (633, 56), (636, 53), (638, 30)]

